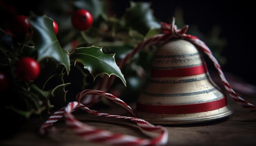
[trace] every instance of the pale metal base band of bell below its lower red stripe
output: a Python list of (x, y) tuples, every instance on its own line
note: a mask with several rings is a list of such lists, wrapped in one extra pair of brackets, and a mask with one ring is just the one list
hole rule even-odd
[(135, 111), (136, 115), (152, 124), (190, 124), (225, 118), (233, 113), (229, 106), (213, 111), (190, 114), (152, 114)]

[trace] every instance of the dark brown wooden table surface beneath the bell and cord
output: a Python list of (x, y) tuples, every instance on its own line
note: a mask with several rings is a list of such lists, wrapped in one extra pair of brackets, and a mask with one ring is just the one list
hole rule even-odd
[[(256, 99), (246, 98), (252, 103)], [(168, 129), (169, 138), (167, 145), (255, 145), (256, 144), (256, 113), (247, 111), (239, 106), (231, 98), (228, 98), (229, 106), (234, 113), (225, 118), (212, 122), (183, 125), (163, 125)], [(132, 104), (134, 107), (134, 104)], [(101, 109), (105, 112), (115, 114), (125, 113), (121, 108)], [(144, 135), (136, 124), (122, 120), (104, 117), (90, 116), (84, 111), (78, 111), (74, 115), (82, 122), (128, 135), (148, 138)], [(45, 122), (47, 117), (31, 118), (17, 129), (17, 133), (0, 141), (0, 145), (12, 146), (104, 146), (104, 144), (85, 142), (72, 131), (70, 131), (62, 119), (55, 124), (56, 131), (51, 135), (41, 136), (38, 134), (40, 125)]]

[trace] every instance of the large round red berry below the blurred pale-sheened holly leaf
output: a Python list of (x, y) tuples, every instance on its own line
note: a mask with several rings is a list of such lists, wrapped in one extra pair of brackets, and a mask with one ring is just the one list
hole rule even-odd
[(18, 62), (16, 73), (21, 80), (35, 80), (40, 73), (40, 66), (33, 58), (25, 57)]

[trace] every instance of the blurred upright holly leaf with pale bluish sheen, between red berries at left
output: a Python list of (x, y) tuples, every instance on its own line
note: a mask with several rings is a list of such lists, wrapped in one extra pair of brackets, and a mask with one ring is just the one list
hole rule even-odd
[(66, 51), (61, 48), (53, 29), (53, 20), (46, 15), (32, 16), (29, 22), (33, 28), (33, 41), (38, 51), (37, 60), (52, 58), (63, 64), (67, 73), (70, 71), (70, 59)]

